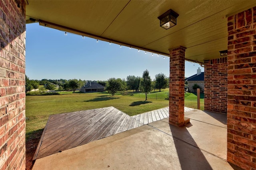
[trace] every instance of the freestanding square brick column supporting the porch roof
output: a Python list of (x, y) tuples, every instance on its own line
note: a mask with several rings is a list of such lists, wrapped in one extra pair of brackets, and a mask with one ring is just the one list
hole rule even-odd
[(184, 124), (185, 47), (170, 49), (169, 123)]

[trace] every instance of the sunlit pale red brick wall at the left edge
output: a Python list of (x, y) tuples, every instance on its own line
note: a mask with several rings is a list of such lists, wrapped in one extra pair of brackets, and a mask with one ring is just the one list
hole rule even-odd
[(0, 170), (25, 169), (25, 2), (0, 0)]

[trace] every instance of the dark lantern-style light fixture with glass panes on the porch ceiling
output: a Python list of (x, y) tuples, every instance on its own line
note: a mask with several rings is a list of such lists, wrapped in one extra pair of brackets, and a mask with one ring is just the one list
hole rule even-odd
[(163, 27), (164, 29), (169, 29), (170, 27), (173, 27), (177, 24), (177, 17), (179, 14), (174, 12), (173, 10), (168, 10), (164, 14), (158, 17), (160, 20), (160, 27)]

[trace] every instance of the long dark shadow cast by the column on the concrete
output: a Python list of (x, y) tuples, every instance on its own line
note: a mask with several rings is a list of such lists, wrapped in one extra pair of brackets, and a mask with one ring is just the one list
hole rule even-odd
[[(174, 145), (180, 160), (180, 166), (182, 170), (212, 170), (204, 154), (186, 129), (191, 126), (191, 123), (183, 127), (170, 125)], [(185, 138), (186, 141), (180, 138)]]

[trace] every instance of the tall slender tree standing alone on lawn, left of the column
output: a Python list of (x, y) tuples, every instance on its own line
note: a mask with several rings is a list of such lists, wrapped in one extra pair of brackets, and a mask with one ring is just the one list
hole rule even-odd
[(145, 70), (142, 74), (142, 79), (140, 81), (140, 90), (146, 94), (146, 100), (148, 97), (148, 93), (152, 90), (151, 86), (151, 78), (149, 76), (148, 70)]

